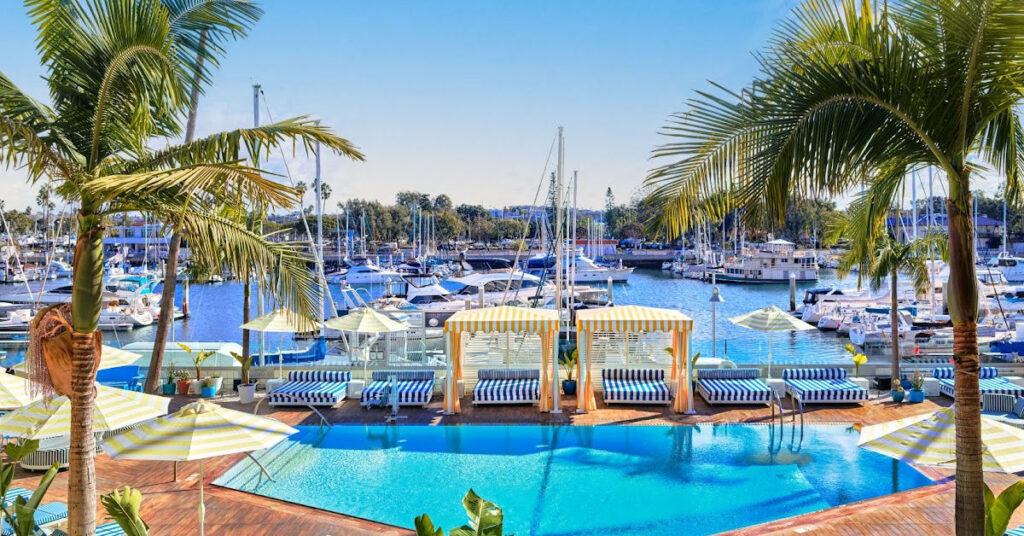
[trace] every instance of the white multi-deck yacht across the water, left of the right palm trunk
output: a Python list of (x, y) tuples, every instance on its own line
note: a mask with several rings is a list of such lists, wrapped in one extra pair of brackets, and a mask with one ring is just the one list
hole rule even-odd
[(738, 260), (727, 260), (717, 274), (719, 283), (772, 284), (818, 280), (817, 258), (813, 251), (797, 249), (785, 240), (772, 240), (749, 249)]

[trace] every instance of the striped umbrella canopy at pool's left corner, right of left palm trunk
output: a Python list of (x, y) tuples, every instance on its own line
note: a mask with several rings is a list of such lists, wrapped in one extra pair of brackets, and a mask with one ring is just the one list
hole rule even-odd
[(112, 458), (187, 461), (268, 449), (296, 431), (274, 419), (200, 400), (100, 446)]

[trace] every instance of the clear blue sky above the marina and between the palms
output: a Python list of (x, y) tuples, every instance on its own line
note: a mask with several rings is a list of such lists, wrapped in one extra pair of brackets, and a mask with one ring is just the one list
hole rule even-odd
[[(529, 204), (558, 126), (579, 205), (624, 202), (653, 167), (668, 116), (714, 80), (741, 87), (753, 53), (794, 0), (264, 0), (250, 36), (228, 45), (200, 100), (198, 135), (310, 115), (367, 156), (325, 155), (329, 208), (392, 202), (403, 190), (456, 204)], [(0, 0), (0, 72), (47, 97), (20, 2)], [(159, 147), (159, 142), (155, 143)], [(288, 158), (292, 180), (313, 162)], [(547, 169), (554, 163), (551, 157)], [(285, 173), (280, 159), (266, 167)], [(288, 178), (282, 178), (288, 181)], [(0, 199), (34, 204), (35, 187), (0, 169)], [(544, 192), (541, 196), (543, 199)]]

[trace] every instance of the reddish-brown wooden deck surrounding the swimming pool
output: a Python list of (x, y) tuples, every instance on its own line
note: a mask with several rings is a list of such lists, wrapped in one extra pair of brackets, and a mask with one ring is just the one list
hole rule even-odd
[[(172, 410), (194, 399), (178, 397), (171, 405)], [(241, 406), (237, 399), (223, 398), (215, 402), (226, 407), (253, 411), (253, 406)], [(562, 401), (561, 414), (539, 414), (532, 407), (485, 406), (473, 407), (468, 400), (463, 401), (463, 413), (455, 416), (442, 414), (438, 398), (427, 408), (402, 408), (403, 424), (458, 425), (483, 423), (570, 423), (570, 424), (693, 424), (762, 422), (771, 420), (771, 412), (763, 407), (711, 407), (697, 401), (696, 415), (676, 415), (669, 408), (656, 406), (633, 406), (608, 408), (599, 403), (597, 411), (575, 414), (575, 402), (571, 398)], [(814, 406), (808, 408), (804, 417), (807, 423), (850, 423), (874, 424), (927, 413), (948, 406), (944, 398), (929, 399), (924, 404), (896, 406), (891, 402), (872, 400), (860, 407)], [(290, 424), (316, 424), (319, 420), (308, 409), (275, 409), (261, 405), (260, 414), (270, 415)], [(324, 412), (332, 423), (382, 423), (381, 410), (365, 411), (354, 401), (342, 407)], [(788, 419), (788, 414), (786, 416)], [(788, 420), (787, 420), (788, 423)], [(370, 521), (318, 510), (302, 505), (286, 503), (257, 495), (251, 495), (226, 488), (212, 486), (223, 471), (242, 458), (225, 456), (204, 462), (207, 504), (206, 533), (211, 536), (253, 535), (253, 536), (346, 536), (346, 535), (406, 535), (411, 531), (385, 526)], [(778, 536), (778, 535), (891, 535), (915, 534), (951, 535), (953, 521), (953, 483), (948, 480), (949, 471), (930, 470), (936, 484), (911, 490), (847, 504), (796, 518), (790, 518), (764, 525), (731, 531), (729, 536)], [(151, 534), (158, 536), (178, 536), (198, 534), (197, 501), (199, 464), (179, 463), (177, 480), (174, 480), (174, 464), (170, 462), (118, 461), (105, 455), (96, 458), (96, 481), (99, 493), (108, 493), (117, 487), (129, 485), (143, 494), (142, 517), (150, 524)], [(37, 473), (18, 471), (15, 486), (34, 488)], [(987, 476), (993, 489), (1001, 489), (1019, 477), (1005, 475)], [(47, 501), (65, 501), (67, 497), (67, 475), (61, 472), (50, 492)], [(461, 497), (453, 497), (453, 501)], [(97, 501), (98, 502), (98, 501)], [(98, 513), (100, 523), (106, 521), (105, 512)], [(1018, 513), (1015, 525), (1024, 524), (1024, 513)], [(412, 520), (410, 520), (412, 523)]]

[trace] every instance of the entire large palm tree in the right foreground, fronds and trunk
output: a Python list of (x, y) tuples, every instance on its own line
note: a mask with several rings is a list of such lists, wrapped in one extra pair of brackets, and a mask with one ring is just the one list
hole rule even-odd
[[(675, 235), (741, 208), (780, 224), (791, 196), (865, 188), (887, 211), (908, 172), (948, 182), (956, 396), (956, 534), (984, 532), (971, 180), (987, 166), (1021, 200), (1024, 4), (1019, 0), (807, 0), (758, 55), (741, 91), (699, 92), (654, 151), (655, 224)], [(977, 161), (972, 162), (970, 159)]]

